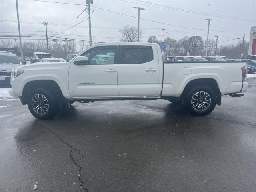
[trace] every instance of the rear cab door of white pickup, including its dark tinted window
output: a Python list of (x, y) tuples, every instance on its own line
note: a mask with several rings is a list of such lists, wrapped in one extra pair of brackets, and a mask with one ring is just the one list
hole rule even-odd
[(159, 60), (156, 46), (120, 46), (119, 96), (156, 96)]

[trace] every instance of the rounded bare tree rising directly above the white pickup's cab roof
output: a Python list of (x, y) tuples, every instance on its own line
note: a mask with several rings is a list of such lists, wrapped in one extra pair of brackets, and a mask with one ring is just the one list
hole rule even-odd
[[(137, 42), (138, 40), (138, 28), (130, 25), (124, 26), (121, 30), (119, 30), (122, 42)], [(140, 30), (140, 39), (142, 36), (142, 30)]]

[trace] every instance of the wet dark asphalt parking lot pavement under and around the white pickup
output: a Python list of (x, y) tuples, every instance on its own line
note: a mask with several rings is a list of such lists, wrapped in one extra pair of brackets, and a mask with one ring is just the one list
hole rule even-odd
[[(256, 78), (205, 117), (167, 100), (80, 104), (37, 120), (0, 98), (0, 191), (256, 191)], [(0, 90), (1, 91), (1, 90)]]

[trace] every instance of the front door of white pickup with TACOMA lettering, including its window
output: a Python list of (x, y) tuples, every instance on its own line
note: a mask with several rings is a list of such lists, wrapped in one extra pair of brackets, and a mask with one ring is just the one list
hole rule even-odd
[[(119, 96), (117, 88), (118, 46), (98, 46), (84, 52), (89, 64), (70, 64), (68, 86), (76, 98)], [(98, 59), (104, 55), (105, 59)]]

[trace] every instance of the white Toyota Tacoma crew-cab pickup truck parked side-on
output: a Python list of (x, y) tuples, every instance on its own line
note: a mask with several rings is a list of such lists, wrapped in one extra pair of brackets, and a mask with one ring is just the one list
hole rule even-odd
[(154, 43), (96, 44), (70, 62), (40, 62), (12, 70), (9, 93), (32, 115), (50, 119), (75, 101), (167, 99), (194, 116), (221, 104), (221, 96), (242, 96), (244, 62), (163, 63)]

